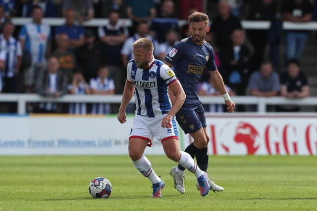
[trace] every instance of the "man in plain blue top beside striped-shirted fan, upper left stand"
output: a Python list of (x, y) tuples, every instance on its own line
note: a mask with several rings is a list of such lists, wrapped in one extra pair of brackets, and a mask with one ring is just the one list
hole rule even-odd
[(66, 23), (56, 27), (55, 38), (61, 33), (65, 33), (69, 38), (69, 48), (75, 49), (84, 43), (84, 28), (75, 24), (75, 10), (69, 8), (65, 11)]

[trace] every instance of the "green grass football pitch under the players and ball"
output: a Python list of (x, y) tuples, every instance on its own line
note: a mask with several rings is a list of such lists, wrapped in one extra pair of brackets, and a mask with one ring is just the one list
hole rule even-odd
[[(128, 156), (2, 156), (0, 211), (317, 210), (317, 157), (211, 156), (209, 173), (225, 190), (206, 197), (188, 171), (186, 193), (178, 193), (168, 174), (175, 163), (148, 158), (166, 184), (159, 199)], [(112, 183), (106, 200), (88, 192), (98, 176)]]

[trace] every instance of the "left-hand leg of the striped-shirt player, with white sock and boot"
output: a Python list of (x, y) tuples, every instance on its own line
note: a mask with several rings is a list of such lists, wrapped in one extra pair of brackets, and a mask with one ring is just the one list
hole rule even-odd
[(164, 182), (152, 169), (150, 161), (144, 156), (144, 150), (148, 145), (147, 140), (140, 138), (131, 138), (129, 140), (129, 156), (136, 169), (142, 173), (143, 176), (149, 178), (153, 185), (152, 197), (161, 197), (160, 190), (164, 187)]

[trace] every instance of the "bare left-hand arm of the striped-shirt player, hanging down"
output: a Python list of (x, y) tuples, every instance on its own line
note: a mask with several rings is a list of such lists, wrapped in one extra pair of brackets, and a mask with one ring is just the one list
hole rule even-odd
[(122, 96), (122, 102), (119, 108), (118, 117), (120, 123), (125, 123), (127, 121), (127, 115), (125, 109), (127, 108), (129, 102), (131, 101), (134, 94), (134, 86), (132, 83), (126, 81), (124, 85), (124, 91)]

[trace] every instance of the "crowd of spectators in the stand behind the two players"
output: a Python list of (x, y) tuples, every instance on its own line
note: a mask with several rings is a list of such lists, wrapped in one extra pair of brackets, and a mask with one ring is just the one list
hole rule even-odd
[[(214, 49), (216, 65), (231, 94), (309, 96), (308, 79), (300, 69), (309, 32), (283, 32), (282, 21), (317, 20), (317, 0), (207, 2), (204, 8), (203, 0), (0, 0), (0, 92), (45, 97), (121, 94), (127, 63), (133, 59), (132, 43), (149, 38), (155, 57), (163, 60), (173, 44), (190, 36), (188, 24), (180, 26), (179, 19), (205, 9), (211, 19), (206, 42)], [(12, 17), (32, 20), (20, 27), (12, 24)], [(44, 17), (64, 17), (65, 22), (53, 27), (43, 23)], [(108, 18), (108, 22), (83, 27), (91, 18)], [(123, 27), (120, 18), (129, 18), (132, 27)], [(242, 19), (270, 21), (271, 25), (268, 30), (245, 30)], [(282, 41), (285, 53), (280, 59)], [(266, 46), (268, 59), (264, 58)], [(204, 75), (198, 93), (219, 94), (209, 83), (208, 74)], [(240, 111), (254, 109), (238, 107)], [(206, 106), (206, 110), (223, 111), (220, 105)], [(4, 111), (14, 113), (16, 105), (7, 103)], [(106, 114), (111, 113), (111, 106), (41, 103), (31, 105), (29, 111)]]

